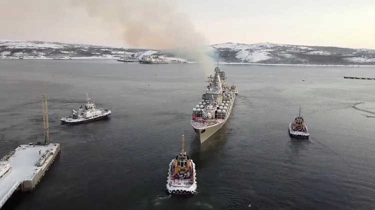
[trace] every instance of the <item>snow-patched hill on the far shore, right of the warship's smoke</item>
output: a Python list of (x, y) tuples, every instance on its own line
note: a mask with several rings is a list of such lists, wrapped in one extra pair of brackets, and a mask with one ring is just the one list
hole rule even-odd
[(375, 50), (273, 43), (211, 45), (226, 62), (264, 64), (352, 65), (375, 64)]

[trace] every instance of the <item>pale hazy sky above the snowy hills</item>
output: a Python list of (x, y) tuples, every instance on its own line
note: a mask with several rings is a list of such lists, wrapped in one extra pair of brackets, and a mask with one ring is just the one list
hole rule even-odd
[[(150, 40), (144, 41), (153, 34), (157, 39), (180, 42), (199, 39), (200, 43), (204, 39), (206, 44), (273, 42), (375, 49), (375, 0), (153, 0), (168, 6), (167, 9), (159, 6), (154, 13), (151, 10), (155, 5), (149, 0), (56, 1), (0, 0), (0, 39), (158, 46)], [(123, 1), (128, 1), (126, 9), (121, 8)], [(77, 4), (85, 4), (86, 9), (74, 7)], [(89, 17), (88, 11), (97, 15)], [(134, 29), (134, 25), (129, 26), (133, 16), (126, 16), (130, 12), (148, 17)], [(161, 15), (174, 18), (178, 12), (184, 13), (178, 17), (182, 29), (174, 25), (157, 34), (146, 28), (149, 25), (145, 21)], [(109, 17), (109, 13), (113, 16)], [(123, 23), (125, 20), (128, 22)], [(125, 29), (127, 32), (123, 34)], [(178, 34), (165, 35), (176, 30)], [(188, 37), (181, 37), (181, 33)], [(142, 40), (135, 40), (137, 37)]]

